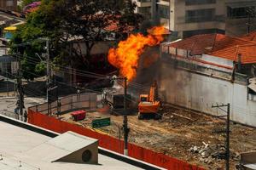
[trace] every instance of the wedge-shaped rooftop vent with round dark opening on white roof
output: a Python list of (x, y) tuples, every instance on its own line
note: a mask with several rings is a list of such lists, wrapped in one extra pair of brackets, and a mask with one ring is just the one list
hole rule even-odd
[(44, 161), (64, 161), (73, 163), (98, 163), (98, 140), (67, 132), (40, 144), (28, 154)]

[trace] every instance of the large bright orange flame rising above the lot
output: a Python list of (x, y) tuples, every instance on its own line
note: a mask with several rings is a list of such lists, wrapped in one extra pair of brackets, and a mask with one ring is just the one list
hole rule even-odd
[(155, 46), (164, 40), (165, 33), (163, 26), (154, 26), (148, 30), (148, 35), (131, 34), (125, 41), (118, 44), (118, 48), (110, 48), (108, 51), (108, 62), (119, 69), (122, 77), (127, 77), (131, 82), (137, 75), (138, 61), (144, 48)]

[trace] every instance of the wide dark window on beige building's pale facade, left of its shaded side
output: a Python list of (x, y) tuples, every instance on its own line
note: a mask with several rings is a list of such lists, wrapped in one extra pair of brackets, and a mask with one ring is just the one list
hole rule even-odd
[(187, 10), (186, 22), (206, 22), (212, 21), (215, 17), (215, 8), (206, 8), (199, 10)]

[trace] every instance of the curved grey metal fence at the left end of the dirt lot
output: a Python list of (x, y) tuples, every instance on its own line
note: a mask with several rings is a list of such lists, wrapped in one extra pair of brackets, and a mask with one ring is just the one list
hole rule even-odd
[(102, 106), (102, 94), (70, 94), (51, 103), (44, 103), (30, 107), (32, 111), (43, 114), (61, 114), (75, 110), (96, 110)]

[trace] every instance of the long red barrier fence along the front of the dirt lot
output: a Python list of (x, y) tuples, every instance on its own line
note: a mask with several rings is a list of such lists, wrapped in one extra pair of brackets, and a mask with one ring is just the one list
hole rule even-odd
[[(55, 119), (52, 116), (46, 116), (44, 114), (32, 111), (28, 109), (28, 122), (36, 125), (38, 127), (44, 127), (56, 133), (65, 133), (67, 131), (73, 131), (75, 133), (88, 136), (90, 138), (98, 139), (99, 145), (102, 148), (108, 150), (113, 150), (118, 153), (123, 153), (124, 142), (123, 140), (115, 139), (109, 135), (97, 133), (91, 129), (72, 124), (69, 122), (63, 122)], [(190, 165), (185, 161), (180, 161), (171, 156), (166, 156), (154, 152), (153, 150), (148, 150), (143, 147), (137, 146), (136, 144), (128, 144), (129, 156), (134, 157), (141, 161), (146, 161), (148, 163), (154, 164), (159, 167), (164, 167), (166, 169), (172, 170), (203, 170), (201, 167)]]

